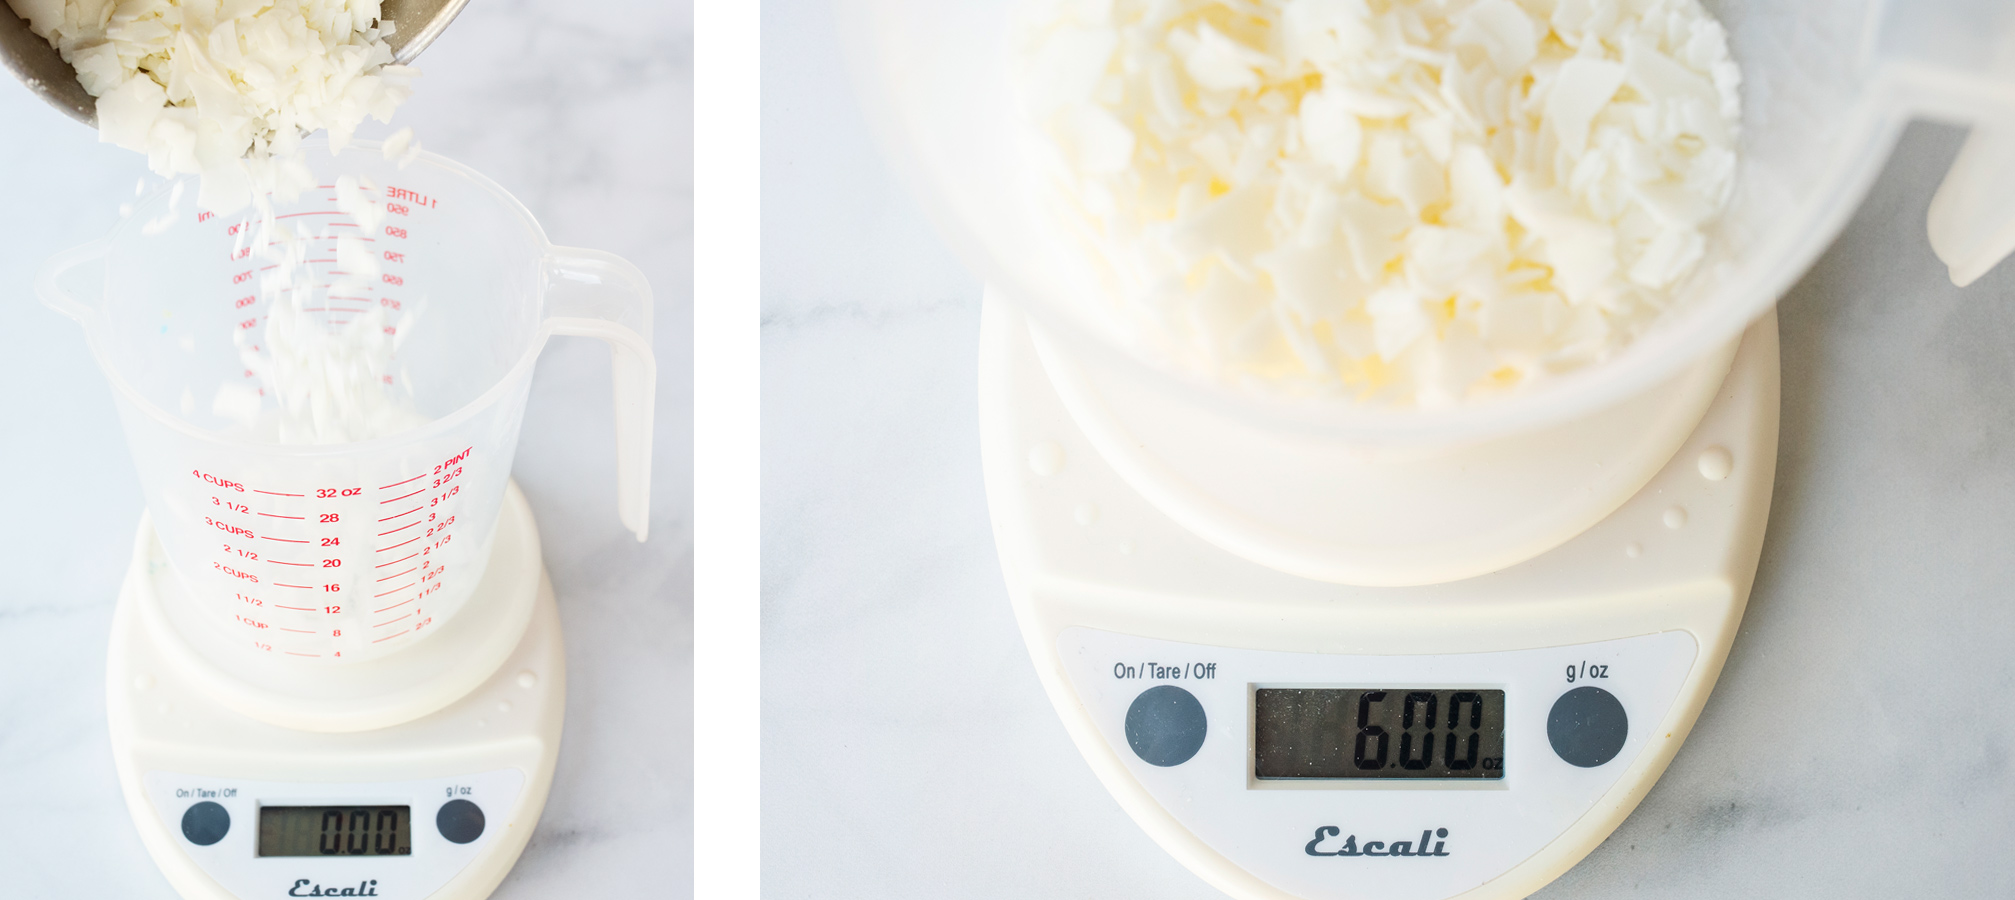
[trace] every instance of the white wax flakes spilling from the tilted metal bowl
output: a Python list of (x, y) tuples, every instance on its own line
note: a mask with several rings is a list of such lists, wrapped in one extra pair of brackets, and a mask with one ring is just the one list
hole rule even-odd
[[(97, 97), (99, 141), (165, 177), (202, 175), (218, 213), (292, 197), (300, 137), (343, 149), (389, 121), (419, 70), (393, 62), (379, 0), (8, 0)], [(306, 183), (304, 183), (306, 181)]]

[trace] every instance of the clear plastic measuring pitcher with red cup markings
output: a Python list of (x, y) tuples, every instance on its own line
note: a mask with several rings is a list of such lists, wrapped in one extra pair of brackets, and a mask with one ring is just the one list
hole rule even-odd
[[(510, 193), (435, 155), (401, 167), (359, 141), (343, 155), (310, 145), (308, 165), (322, 187), (276, 199), (286, 230), (272, 238), (302, 244), (316, 324), (397, 312), (385, 328), (405, 334), (383, 379), (423, 425), (353, 443), (264, 443), (214, 411), (220, 389), (258, 385), (234, 338), (248, 332), (256, 346), (274, 302), (254, 290), (270, 268), (250, 246), (256, 213), (204, 213), (163, 187), (36, 282), (85, 326), (153, 528), (202, 618), (250, 652), (353, 662), (482, 614), (467, 600), (552, 334), (602, 338), (615, 352), (617, 507), (643, 540), (655, 395), (643, 274), (548, 244)], [(363, 185), (365, 205), (351, 205), (361, 215), (339, 209), (343, 175)], [(377, 268), (369, 284), (345, 270), (359, 262)]]

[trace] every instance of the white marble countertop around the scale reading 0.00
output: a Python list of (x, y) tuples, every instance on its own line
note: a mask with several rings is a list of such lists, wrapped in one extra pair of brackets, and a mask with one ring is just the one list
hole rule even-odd
[[(526, 411), (516, 477), (560, 598), (568, 709), (552, 799), (498, 898), (691, 892), (691, 20), (685, 0), (472, 2), (393, 123), (516, 193), (556, 244), (629, 258), (657, 296), (649, 544), (615, 515), (607, 350), (556, 340)], [(48, 254), (113, 226), (145, 161), (0, 79), (0, 896), (171, 898), (105, 737), (139, 481), (83, 332), (30, 290)]]

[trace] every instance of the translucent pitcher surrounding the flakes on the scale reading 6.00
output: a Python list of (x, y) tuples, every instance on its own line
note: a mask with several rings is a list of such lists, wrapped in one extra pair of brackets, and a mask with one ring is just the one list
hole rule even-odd
[(2015, 248), (2015, 4), (1707, 0), (1741, 64), (1735, 193), (1697, 272), (1628, 348), (1574, 374), (1445, 409), (1384, 409), (1227, 385), (1136, 346), (1038, 199), (1016, 44), (1034, 0), (846, 0), (870, 117), (969, 266), (1084, 364), (1278, 431), (1358, 443), (1469, 443), (1580, 419), (1729, 342), (1846, 223), (1912, 117), (1975, 123), (1932, 209), (1934, 248), (1969, 280)]

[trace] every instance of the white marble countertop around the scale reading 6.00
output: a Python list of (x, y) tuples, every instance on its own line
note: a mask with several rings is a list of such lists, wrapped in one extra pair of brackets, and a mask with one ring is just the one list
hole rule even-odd
[[(1098, 785), (979, 479), (979, 284), (868, 143), (822, 0), (764, 16), (764, 892), (1213, 898)], [(1691, 741), (1548, 898), (2015, 882), (2015, 264), (1957, 290), (1912, 127), (1783, 298), (1761, 572)]]

